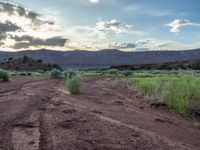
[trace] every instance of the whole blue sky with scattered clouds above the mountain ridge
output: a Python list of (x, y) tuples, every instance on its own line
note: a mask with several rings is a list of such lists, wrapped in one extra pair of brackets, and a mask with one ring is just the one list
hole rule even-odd
[(0, 50), (200, 48), (199, 0), (0, 0)]

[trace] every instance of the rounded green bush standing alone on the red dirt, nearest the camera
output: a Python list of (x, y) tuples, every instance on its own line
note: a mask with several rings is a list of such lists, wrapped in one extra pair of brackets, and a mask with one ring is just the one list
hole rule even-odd
[(79, 76), (73, 76), (71, 79), (68, 79), (67, 88), (71, 94), (78, 94), (81, 88), (81, 79)]

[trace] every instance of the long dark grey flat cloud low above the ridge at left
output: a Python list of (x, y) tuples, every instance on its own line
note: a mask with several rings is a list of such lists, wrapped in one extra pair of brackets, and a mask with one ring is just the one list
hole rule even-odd
[(63, 37), (52, 37), (48, 39), (40, 39), (40, 38), (34, 38), (28, 35), (24, 35), (22, 37), (12, 37), (16, 41), (15, 45), (12, 48), (15, 49), (23, 49), (23, 48), (29, 48), (29, 47), (40, 47), (40, 46), (60, 46), (63, 47), (65, 43), (68, 41), (68, 39)]

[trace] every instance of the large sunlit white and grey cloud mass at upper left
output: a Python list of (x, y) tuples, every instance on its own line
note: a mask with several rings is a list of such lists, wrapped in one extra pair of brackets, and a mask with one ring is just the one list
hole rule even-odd
[(68, 39), (62, 35), (54, 21), (21, 6), (0, 2), (1, 46), (14, 49), (64, 47)]

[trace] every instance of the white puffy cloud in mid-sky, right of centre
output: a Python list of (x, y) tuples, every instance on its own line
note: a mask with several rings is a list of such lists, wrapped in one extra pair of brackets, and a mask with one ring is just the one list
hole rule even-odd
[(141, 32), (135, 30), (132, 25), (124, 24), (116, 19), (112, 19), (110, 21), (98, 21), (96, 23), (96, 31), (100, 34), (100, 36), (106, 36), (109, 32), (114, 32), (115, 34), (141, 34)]

